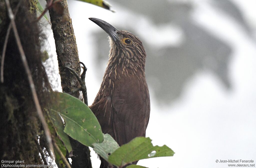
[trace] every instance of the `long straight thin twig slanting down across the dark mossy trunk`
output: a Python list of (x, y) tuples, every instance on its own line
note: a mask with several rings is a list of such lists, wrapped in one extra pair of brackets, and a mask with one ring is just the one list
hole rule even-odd
[[(30, 72), (30, 69), (29, 69), (29, 66), (28, 66), (28, 62), (27, 62), (22, 44), (20, 42), (20, 38), (19, 38), (19, 34), (18, 34), (16, 24), (15, 24), (15, 21), (14, 21), (13, 11), (12, 11), (12, 8), (10, 6), (9, 0), (5, 0), (5, 3), (6, 3), (6, 6), (7, 6), (7, 9), (8, 9), (10, 22), (12, 23), (14, 36), (16, 38), (16, 43), (17, 43), (17, 46), (18, 46), (18, 49), (19, 49), (19, 52), (20, 52), (20, 57), (22, 59), (22, 63), (24, 65), (25, 71), (26, 71), (27, 76), (28, 76), (28, 82), (29, 82), (30, 89), (31, 89), (31, 92), (32, 92), (32, 95), (33, 95), (33, 100), (34, 100), (34, 103), (35, 103), (35, 106), (36, 106), (36, 111), (37, 111), (38, 117), (39, 117), (39, 119), (40, 119), (40, 121), (43, 125), (45, 136), (46, 136), (46, 139), (47, 139), (48, 144), (49, 144), (49, 148), (52, 151), (52, 153), (54, 154), (51, 133), (50, 133), (48, 125), (45, 121), (44, 114), (43, 114), (43, 112), (41, 110), (41, 107), (40, 107), (40, 104), (39, 104), (39, 100), (38, 100), (38, 97), (37, 97), (37, 94), (36, 94), (35, 84), (33, 82), (33, 78), (32, 78), (32, 75), (31, 75), (31, 72)], [(50, 156), (51, 156), (51, 151), (49, 151)]]

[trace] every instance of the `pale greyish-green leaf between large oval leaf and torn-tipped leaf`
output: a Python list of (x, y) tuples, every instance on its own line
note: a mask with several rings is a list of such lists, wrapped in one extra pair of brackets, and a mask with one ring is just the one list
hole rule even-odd
[(109, 155), (111, 155), (116, 149), (119, 148), (118, 143), (109, 134), (104, 134), (104, 141), (102, 143), (94, 143), (93, 150), (98, 153), (103, 159), (108, 161)]

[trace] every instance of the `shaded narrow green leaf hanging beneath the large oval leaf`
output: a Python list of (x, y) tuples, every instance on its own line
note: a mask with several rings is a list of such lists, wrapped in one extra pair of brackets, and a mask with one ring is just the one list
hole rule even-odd
[[(62, 121), (60, 115), (58, 113), (48, 111), (48, 110), (47, 110), (47, 113), (49, 114), (50, 120), (52, 122), (52, 125), (54, 125), (55, 131), (56, 131), (59, 139), (63, 142), (63, 144), (67, 148), (68, 152), (72, 151), (72, 147), (71, 147), (68, 135), (66, 133), (64, 133), (64, 131), (63, 131), (64, 124), (63, 124), (63, 121)], [(57, 141), (57, 144), (58, 144), (58, 141)], [(63, 155), (65, 156), (66, 152), (63, 153)]]

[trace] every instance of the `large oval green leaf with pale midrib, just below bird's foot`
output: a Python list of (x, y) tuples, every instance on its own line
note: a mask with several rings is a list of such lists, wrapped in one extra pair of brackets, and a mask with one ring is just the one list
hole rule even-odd
[(65, 121), (64, 132), (81, 144), (93, 147), (103, 142), (100, 124), (91, 109), (81, 100), (67, 93), (50, 92), (50, 114), (60, 114)]

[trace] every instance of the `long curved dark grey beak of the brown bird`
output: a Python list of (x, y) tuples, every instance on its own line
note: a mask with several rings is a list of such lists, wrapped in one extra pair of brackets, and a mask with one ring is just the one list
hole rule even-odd
[(94, 23), (98, 24), (99, 27), (101, 27), (106, 33), (109, 34), (109, 36), (114, 40), (114, 42), (119, 41), (117, 29), (109, 24), (108, 22), (105, 22), (104, 20), (97, 19), (97, 18), (89, 18)]

